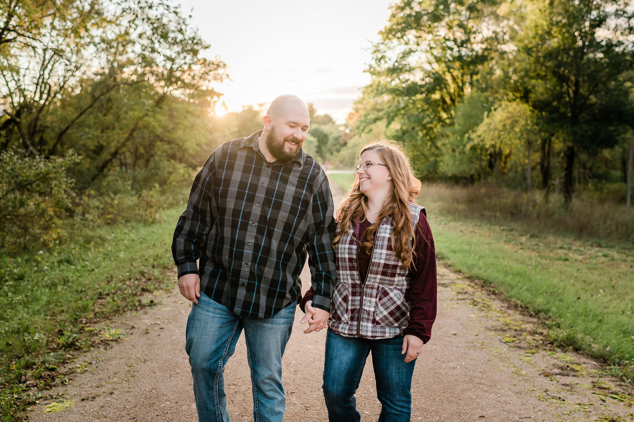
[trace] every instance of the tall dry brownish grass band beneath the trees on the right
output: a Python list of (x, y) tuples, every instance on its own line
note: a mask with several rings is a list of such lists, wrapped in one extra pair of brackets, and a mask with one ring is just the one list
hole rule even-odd
[(634, 242), (634, 209), (579, 193), (570, 206), (561, 195), (527, 194), (493, 184), (428, 183), (421, 204), (469, 219), (516, 225), (528, 232), (569, 233), (580, 238)]

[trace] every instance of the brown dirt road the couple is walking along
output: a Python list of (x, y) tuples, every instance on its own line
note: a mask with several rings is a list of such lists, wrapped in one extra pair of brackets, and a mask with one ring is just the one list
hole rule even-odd
[[(307, 289), (307, 268), (302, 280)], [(442, 266), (438, 283), (432, 340), (413, 376), (412, 421), (634, 420), (631, 388), (599, 376), (600, 365), (591, 359), (547, 347), (534, 318)], [(31, 420), (196, 421), (184, 351), (190, 304), (174, 286), (154, 294), (157, 306), (111, 321), (128, 338), (72, 363), (84, 372), (51, 390)], [(283, 358), (285, 421), (327, 421), (321, 394), (325, 331), (302, 333), (301, 317), (298, 308)], [(376, 421), (380, 412), (370, 359), (356, 395), (363, 421)], [(243, 337), (225, 380), (231, 420), (253, 420)], [(68, 407), (44, 413), (49, 402)]]

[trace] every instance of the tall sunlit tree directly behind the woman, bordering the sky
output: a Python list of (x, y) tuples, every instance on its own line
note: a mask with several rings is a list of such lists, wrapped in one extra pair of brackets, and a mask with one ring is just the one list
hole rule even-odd
[(438, 140), (451, 124), (460, 99), (479, 80), (491, 54), (505, 42), (498, 15), (501, 1), (403, 0), (392, 13), (372, 51), (357, 108), (359, 129), (384, 120), (389, 135), (408, 144), (418, 170), (437, 170)]

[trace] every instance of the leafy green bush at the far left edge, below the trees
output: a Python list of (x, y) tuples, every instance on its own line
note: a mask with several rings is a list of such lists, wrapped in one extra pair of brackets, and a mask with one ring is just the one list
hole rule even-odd
[(72, 151), (50, 159), (0, 154), (0, 249), (17, 254), (59, 242), (74, 199), (66, 170), (77, 161)]

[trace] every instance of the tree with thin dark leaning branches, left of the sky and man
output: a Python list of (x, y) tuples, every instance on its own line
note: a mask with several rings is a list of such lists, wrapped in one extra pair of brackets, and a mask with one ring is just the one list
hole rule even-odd
[(169, 3), (74, 5), (77, 13), (53, 13), (0, 57), (0, 151), (20, 144), (33, 156), (63, 154), (69, 133), (86, 130), (82, 121), (109, 118), (115, 130), (108, 128), (107, 142), (88, 141), (94, 180), (168, 97), (209, 112), (219, 96), (211, 84), (223, 80), (224, 63), (201, 56), (209, 46)]

